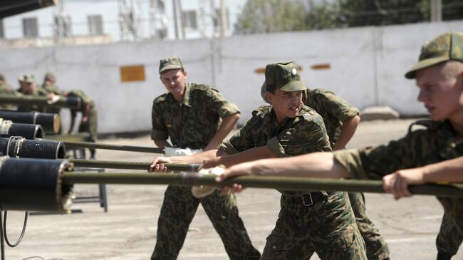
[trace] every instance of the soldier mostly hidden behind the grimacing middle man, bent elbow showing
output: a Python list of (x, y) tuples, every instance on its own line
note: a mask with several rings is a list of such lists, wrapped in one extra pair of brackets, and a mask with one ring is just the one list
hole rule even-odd
[[(266, 84), (262, 85), (261, 96), (266, 100)], [(309, 89), (303, 92), (302, 102), (304, 105), (316, 110), (321, 115), (326, 126), (326, 132), (330, 137), (331, 148), (341, 150), (353, 137), (358, 123), (360, 123), (360, 112), (347, 101), (333, 92), (322, 88)], [(357, 222), (360, 234), (367, 249), (369, 260), (389, 259), (389, 248), (381, 236), (375, 224), (368, 218), (365, 209), (365, 196), (362, 192), (348, 192), (350, 207), (352, 207), (355, 221)]]

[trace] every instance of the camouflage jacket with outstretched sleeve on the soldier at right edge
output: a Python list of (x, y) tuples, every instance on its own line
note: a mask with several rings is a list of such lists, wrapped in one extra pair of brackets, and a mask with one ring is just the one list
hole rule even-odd
[[(414, 126), (420, 127), (414, 130)], [(424, 127), (424, 129), (422, 128)], [(419, 120), (410, 125), (405, 137), (387, 145), (360, 150), (335, 151), (337, 160), (351, 177), (380, 180), (396, 170), (421, 167), (463, 155), (463, 142), (448, 121)]]

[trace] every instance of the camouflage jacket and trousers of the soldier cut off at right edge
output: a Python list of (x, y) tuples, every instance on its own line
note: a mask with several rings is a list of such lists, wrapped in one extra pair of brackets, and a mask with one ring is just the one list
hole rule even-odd
[[(425, 129), (413, 130), (413, 125)], [(410, 125), (408, 134), (388, 145), (366, 147), (361, 150), (335, 151), (337, 160), (351, 177), (381, 180), (397, 170), (422, 167), (463, 156), (463, 142), (455, 140), (454, 128), (448, 121), (420, 120)], [(437, 251), (453, 256), (463, 241), (463, 199), (437, 197), (444, 207)], [(442, 259), (449, 259), (442, 258)]]

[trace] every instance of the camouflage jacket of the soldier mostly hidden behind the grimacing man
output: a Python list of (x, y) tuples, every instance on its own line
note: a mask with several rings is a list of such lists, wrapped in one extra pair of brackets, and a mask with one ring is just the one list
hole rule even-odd
[(325, 122), (331, 147), (338, 140), (342, 123), (360, 112), (333, 92), (322, 88), (304, 91), (304, 104), (316, 110)]

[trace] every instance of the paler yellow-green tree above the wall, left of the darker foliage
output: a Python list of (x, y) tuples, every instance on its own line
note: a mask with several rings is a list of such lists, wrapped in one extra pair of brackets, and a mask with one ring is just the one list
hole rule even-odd
[(235, 24), (234, 33), (301, 31), (306, 6), (302, 0), (248, 0)]

